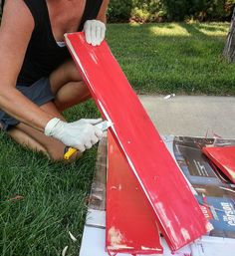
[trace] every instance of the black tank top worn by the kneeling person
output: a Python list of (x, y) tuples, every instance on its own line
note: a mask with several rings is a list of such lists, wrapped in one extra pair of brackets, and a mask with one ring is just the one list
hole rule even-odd
[[(46, 0), (24, 0), (30, 9), (35, 28), (29, 42), (25, 59), (17, 79), (18, 84), (30, 86), (70, 57), (67, 47), (60, 47), (53, 36)], [(87, 20), (96, 19), (103, 0), (87, 0), (78, 31)]]

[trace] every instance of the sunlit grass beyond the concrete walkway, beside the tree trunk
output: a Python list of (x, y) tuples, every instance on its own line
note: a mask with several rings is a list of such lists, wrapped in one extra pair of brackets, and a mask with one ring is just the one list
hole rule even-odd
[(222, 58), (228, 23), (111, 24), (108, 41), (138, 94), (235, 95)]

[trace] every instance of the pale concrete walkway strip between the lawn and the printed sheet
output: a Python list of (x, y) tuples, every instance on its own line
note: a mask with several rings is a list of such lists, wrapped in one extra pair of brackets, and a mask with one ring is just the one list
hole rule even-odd
[(139, 98), (160, 134), (235, 138), (235, 97)]

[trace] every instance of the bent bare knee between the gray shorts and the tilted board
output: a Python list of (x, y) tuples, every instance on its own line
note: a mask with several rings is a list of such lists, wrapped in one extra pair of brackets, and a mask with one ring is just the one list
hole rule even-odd
[(72, 60), (66, 62), (51, 74), (50, 84), (52, 92), (56, 96), (55, 105), (60, 112), (91, 97)]

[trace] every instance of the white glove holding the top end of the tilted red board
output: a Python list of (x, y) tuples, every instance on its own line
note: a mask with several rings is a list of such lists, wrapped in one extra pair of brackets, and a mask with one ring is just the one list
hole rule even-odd
[(106, 36), (106, 24), (99, 20), (88, 20), (84, 24), (84, 32), (87, 43), (99, 46)]

